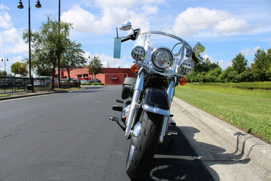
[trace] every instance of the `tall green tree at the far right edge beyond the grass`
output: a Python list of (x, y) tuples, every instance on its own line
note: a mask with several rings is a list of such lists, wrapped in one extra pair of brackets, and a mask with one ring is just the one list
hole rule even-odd
[(251, 63), (251, 69), (255, 74), (256, 81), (271, 81), (271, 48), (267, 50), (257, 50), (254, 63)]

